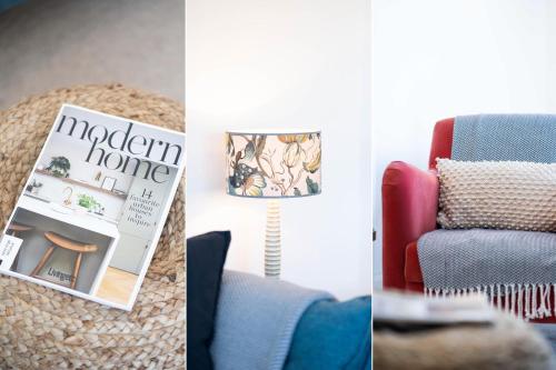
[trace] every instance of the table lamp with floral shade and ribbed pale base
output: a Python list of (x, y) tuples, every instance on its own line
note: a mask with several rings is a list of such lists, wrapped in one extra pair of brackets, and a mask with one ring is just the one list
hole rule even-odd
[(282, 198), (320, 193), (320, 131), (227, 131), (227, 192), (267, 199), (265, 276), (280, 277)]

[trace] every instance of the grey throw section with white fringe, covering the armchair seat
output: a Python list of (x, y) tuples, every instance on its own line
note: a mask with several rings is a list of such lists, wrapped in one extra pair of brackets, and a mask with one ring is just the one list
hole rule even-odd
[(483, 292), (527, 320), (556, 314), (555, 233), (435, 230), (417, 251), (428, 296)]

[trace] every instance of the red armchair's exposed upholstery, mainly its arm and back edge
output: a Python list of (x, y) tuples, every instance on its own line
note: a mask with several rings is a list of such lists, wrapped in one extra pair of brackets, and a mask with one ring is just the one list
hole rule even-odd
[[(454, 118), (436, 123), (428, 171), (391, 162), (383, 177), (383, 284), (385, 289), (423, 292), (417, 240), (437, 228), (436, 158), (451, 158)], [(556, 318), (535, 320), (556, 322)]]

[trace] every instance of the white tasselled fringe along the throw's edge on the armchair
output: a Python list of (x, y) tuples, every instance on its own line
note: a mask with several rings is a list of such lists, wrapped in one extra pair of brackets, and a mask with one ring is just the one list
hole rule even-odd
[(556, 316), (556, 283), (554, 284), (489, 284), (468, 289), (425, 288), (425, 297), (445, 299), (484, 293), (490, 306), (500, 312), (513, 313), (529, 321)]

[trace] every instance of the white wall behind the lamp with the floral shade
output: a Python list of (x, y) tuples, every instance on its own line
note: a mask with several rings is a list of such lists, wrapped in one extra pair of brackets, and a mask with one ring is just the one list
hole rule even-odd
[(227, 268), (262, 273), (266, 211), (225, 194), (225, 130), (317, 127), (322, 194), (281, 202), (282, 279), (340, 298), (370, 292), (369, 8), (187, 2), (187, 233), (231, 230)]

